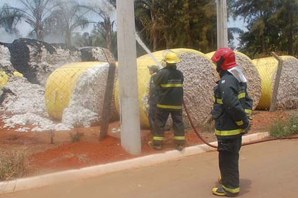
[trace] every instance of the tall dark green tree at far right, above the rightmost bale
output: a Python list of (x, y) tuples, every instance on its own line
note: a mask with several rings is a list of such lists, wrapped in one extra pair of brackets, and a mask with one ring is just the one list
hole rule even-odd
[(298, 0), (234, 0), (233, 11), (248, 23), (248, 32), (241, 35), (243, 52), (253, 57), (298, 53)]

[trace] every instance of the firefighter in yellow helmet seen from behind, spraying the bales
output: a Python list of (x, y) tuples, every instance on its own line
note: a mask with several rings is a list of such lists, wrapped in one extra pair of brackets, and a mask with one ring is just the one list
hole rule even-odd
[(165, 123), (171, 114), (173, 120), (175, 148), (182, 150), (185, 143), (184, 125), (182, 119), (183, 74), (177, 70), (180, 59), (176, 53), (165, 51), (166, 66), (158, 71), (154, 78), (157, 87), (157, 108), (155, 112), (153, 141), (149, 147), (161, 149), (164, 140)]

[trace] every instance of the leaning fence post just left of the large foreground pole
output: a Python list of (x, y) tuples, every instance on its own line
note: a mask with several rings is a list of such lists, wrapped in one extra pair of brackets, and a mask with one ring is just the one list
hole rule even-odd
[(104, 93), (103, 108), (101, 113), (100, 133), (99, 139), (103, 139), (108, 134), (111, 102), (113, 97), (114, 80), (116, 64), (113, 54), (109, 49), (103, 49), (104, 55), (106, 56), (109, 63), (109, 71), (107, 77), (107, 85)]

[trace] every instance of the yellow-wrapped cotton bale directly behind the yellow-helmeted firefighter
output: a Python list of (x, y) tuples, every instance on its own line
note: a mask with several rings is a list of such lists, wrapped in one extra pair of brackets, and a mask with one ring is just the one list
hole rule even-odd
[[(190, 116), (196, 125), (203, 124), (209, 117), (212, 109), (213, 87), (216, 85), (217, 72), (208, 57), (200, 51), (193, 49), (171, 49), (176, 52), (181, 60), (177, 69), (184, 75), (184, 100), (188, 106)], [(161, 61), (163, 52), (155, 51), (153, 56)], [(139, 105), (141, 124), (143, 128), (149, 127), (148, 121), (148, 90), (149, 70), (147, 66), (156, 65), (149, 55), (137, 59)], [(119, 87), (116, 85), (116, 105), (119, 101)], [(119, 106), (117, 106), (119, 110)], [(184, 113), (184, 121), (187, 117)]]

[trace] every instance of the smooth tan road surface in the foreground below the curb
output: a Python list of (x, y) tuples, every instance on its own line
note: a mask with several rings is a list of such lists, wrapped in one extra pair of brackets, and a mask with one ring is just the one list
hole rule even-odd
[[(215, 198), (217, 152), (0, 198)], [(297, 198), (298, 140), (241, 148), (241, 198)]]

